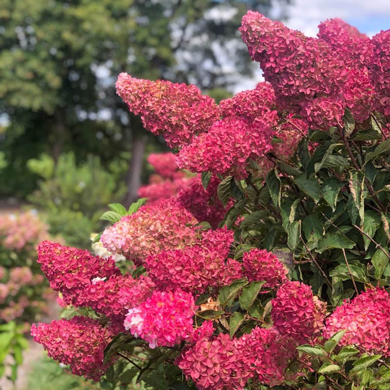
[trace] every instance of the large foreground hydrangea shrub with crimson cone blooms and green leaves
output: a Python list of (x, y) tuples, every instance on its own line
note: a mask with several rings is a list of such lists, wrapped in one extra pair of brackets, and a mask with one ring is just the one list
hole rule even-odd
[(198, 176), (110, 205), (97, 238), (132, 272), (43, 242), (74, 309), (34, 338), (105, 389), (389, 389), (389, 31), (332, 19), (309, 38), (250, 11), (265, 82), (218, 105), (121, 74), (118, 94), (175, 148), (156, 172)]

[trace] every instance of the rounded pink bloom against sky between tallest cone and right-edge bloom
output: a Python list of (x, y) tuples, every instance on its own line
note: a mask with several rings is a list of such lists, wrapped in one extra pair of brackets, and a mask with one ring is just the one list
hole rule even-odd
[(372, 55), (372, 45), (366, 34), (344, 20), (334, 18), (318, 25), (318, 38), (326, 41), (346, 64), (366, 68)]

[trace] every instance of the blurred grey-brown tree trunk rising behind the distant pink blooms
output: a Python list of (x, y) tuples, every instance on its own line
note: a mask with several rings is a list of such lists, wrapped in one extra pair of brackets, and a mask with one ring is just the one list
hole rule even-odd
[(127, 194), (124, 198), (124, 205), (126, 208), (138, 198), (138, 189), (141, 186), (145, 144), (146, 137), (144, 135), (139, 135), (133, 139), (132, 158), (126, 177)]

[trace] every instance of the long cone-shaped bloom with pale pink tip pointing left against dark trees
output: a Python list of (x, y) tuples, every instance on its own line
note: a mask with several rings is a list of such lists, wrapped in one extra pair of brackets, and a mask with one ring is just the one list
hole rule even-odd
[(202, 95), (195, 85), (150, 81), (121, 73), (116, 86), (130, 111), (141, 116), (145, 129), (162, 135), (171, 148), (191, 142), (219, 116), (214, 99)]

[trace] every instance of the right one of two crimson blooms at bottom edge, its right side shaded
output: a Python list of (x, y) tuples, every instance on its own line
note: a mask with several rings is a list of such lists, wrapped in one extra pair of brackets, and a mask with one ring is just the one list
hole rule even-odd
[(298, 355), (298, 343), (275, 328), (256, 327), (241, 336), (236, 345), (244, 364), (257, 373), (254, 379), (260, 383), (273, 387), (282, 385), (292, 376), (287, 369)]

